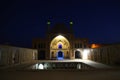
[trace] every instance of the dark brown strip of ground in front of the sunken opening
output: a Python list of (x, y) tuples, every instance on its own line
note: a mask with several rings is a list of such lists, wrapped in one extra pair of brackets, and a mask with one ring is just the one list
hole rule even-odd
[(0, 70), (0, 80), (120, 80), (120, 69), (109, 70)]

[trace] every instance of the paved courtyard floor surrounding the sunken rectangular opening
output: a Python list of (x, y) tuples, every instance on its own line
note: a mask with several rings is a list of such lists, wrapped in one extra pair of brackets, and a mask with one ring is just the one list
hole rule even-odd
[(0, 69), (0, 80), (120, 80), (120, 69), (89, 60), (52, 60), (52, 62), (84, 62), (98, 69), (95, 70), (26, 70), (24, 67), (35, 63), (51, 62), (36, 61), (14, 65)]

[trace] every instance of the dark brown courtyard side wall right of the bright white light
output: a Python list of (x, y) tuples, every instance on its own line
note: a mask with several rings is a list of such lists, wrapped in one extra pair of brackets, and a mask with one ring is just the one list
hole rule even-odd
[(120, 65), (120, 44), (95, 48), (91, 51), (90, 57), (93, 61)]

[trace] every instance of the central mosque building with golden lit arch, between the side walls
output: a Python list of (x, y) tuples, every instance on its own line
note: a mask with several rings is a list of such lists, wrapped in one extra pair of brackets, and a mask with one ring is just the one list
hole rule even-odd
[[(82, 59), (83, 49), (88, 48), (87, 38), (76, 38), (72, 26), (48, 25), (45, 38), (33, 39), (33, 48), (38, 50), (41, 59)], [(79, 50), (78, 50), (79, 48)]]

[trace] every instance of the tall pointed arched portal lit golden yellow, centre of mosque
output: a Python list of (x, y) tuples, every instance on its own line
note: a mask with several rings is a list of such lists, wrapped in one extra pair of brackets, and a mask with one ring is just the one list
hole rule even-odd
[[(68, 58), (68, 52), (70, 52), (70, 43), (62, 35), (58, 35), (50, 43), (50, 58), (52, 59), (53, 57), (55, 59), (58, 59), (60, 56), (63, 59)], [(52, 54), (54, 53), (54, 55)], [(70, 55), (69, 55), (70, 56)]]

